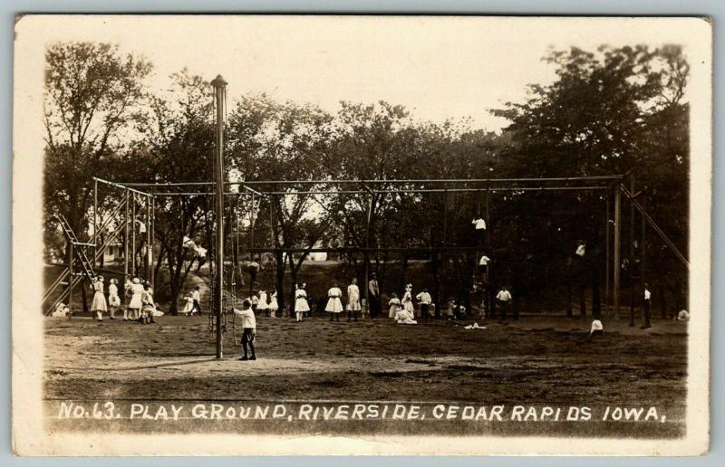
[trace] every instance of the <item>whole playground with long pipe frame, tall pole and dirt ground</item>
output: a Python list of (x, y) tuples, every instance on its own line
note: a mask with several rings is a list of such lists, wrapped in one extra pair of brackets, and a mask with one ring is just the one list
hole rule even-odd
[[(648, 214), (646, 186), (635, 186), (633, 169), (599, 176), (243, 180), (224, 168), (226, 81), (218, 77), (212, 85), (214, 181), (94, 176), (87, 240), (59, 214), (69, 246), (52, 264), (62, 269), (46, 274), (46, 401), (454, 401), (603, 410), (627, 401), (656, 406), (671, 423), (604, 421), (580, 432), (567, 421), (546, 433), (682, 434), (687, 319), (672, 317), (686, 302), (680, 285), (690, 265)], [(114, 247), (122, 263), (106, 264)], [(677, 272), (656, 278), (657, 317), (648, 250), (670, 252)], [(316, 253), (325, 257), (314, 264)], [(121, 310), (138, 312), (142, 302), (148, 316), (109, 319), (101, 273), (114, 280), (114, 299), (126, 293)], [(427, 299), (416, 295), (429, 289)], [(312, 316), (295, 321), (299, 291)], [(403, 304), (394, 305), (395, 293)], [(252, 295), (260, 300), (257, 359), (238, 361), (236, 317), (252, 306)], [(267, 298), (278, 305), (273, 316), (259, 311)], [(339, 321), (328, 319), (326, 311), (343, 310), (342, 303), (330, 308), (340, 298), (346, 307), (377, 303), (374, 319), (350, 321), (344, 312)], [(410, 307), (410, 317), (391, 319), (391, 303)], [(450, 313), (426, 319), (420, 303)], [(184, 315), (198, 306), (200, 314)], [(461, 433), (539, 433), (533, 426), (451, 424)], [(386, 423), (285, 429), (400, 433)], [(405, 429), (440, 433), (422, 421)]]

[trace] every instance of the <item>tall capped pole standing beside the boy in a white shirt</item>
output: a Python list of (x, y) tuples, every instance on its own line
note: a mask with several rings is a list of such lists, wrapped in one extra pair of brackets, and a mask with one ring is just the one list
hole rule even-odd
[(217, 358), (223, 357), (221, 319), (224, 301), (224, 96), (227, 90), (227, 81), (217, 75), (211, 81), (217, 100), (217, 154), (215, 174), (217, 182)]

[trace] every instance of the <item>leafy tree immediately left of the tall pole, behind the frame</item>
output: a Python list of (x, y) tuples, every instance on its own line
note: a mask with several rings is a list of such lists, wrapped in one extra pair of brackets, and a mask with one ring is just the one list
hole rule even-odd
[[(150, 183), (206, 182), (212, 179), (215, 144), (209, 84), (186, 70), (171, 79), (165, 95), (150, 99), (144, 118), (139, 120), (141, 138), (126, 155), (126, 162), (135, 167), (134, 179)], [(194, 189), (205, 191), (208, 187)], [(154, 267), (157, 276), (164, 262), (169, 268), (171, 314), (177, 313), (177, 299), (195, 259), (195, 254), (184, 247), (184, 237), (210, 249), (208, 232), (213, 219), (208, 203), (206, 195), (157, 199), (155, 234), (160, 250)]]

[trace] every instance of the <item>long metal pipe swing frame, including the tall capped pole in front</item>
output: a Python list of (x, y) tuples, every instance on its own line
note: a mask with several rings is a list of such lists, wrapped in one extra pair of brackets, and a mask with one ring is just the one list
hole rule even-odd
[[(99, 254), (107, 247), (106, 243), (109, 239), (106, 239), (105, 243), (99, 244), (99, 233), (103, 231), (106, 224), (99, 225), (98, 216), (98, 184), (103, 184), (115, 188), (119, 188), (123, 191), (121, 202), (112, 209), (113, 214), (124, 214), (124, 218), (121, 221), (123, 231), (125, 232), (125, 265), (124, 274), (129, 272), (135, 274), (136, 262), (135, 262), (135, 228), (131, 229), (131, 248), (134, 250), (134, 262), (130, 270), (129, 268), (129, 224), (131, 219), (135, 224), (137, 212), (136, 205), (138, 201), (145, 201), (147, 208), (148, 219), (150, 219), (150, 229), (147, 229), (147, 245), (148, 255), (147, 264), (149, 264), (150, 277), (149, 280), (153, 286), (153, 250), (155, 244), (154, 237), (154, 220), (157, 208), (156, 198), (160, 197), (172, 197), (172, 196), (210, 196), (214, 199), (214, 234), (215, 241), (209, 245), (209, 251), (211, 257), (221, 259), (221, 261), (212, 261), (214, 272), (212, 277), (216, 276), (222, 281), (222, 287), (217, 287), (213, 284), (212, 291), (214, 292), (213, 297), (213, 311), (211, 316), (211, 326), (214, 334), (216, 334), (217, 340), (217, 357), (223, 357), (222, 333), (226, 330), (226, 317), (223, 312), (225, 302), (225, 285), (223, 282), (224, 268), (225, 268), (225, 254), (224, 254), (224, 243), (225, 243), (225, 199), (228, 197), (237, 196), (237, 207), (238, 207), (238, 196), (246, 195), (251, 197), (252, 211), (249, 215), (250, 225), (249, 229), (253, 233), (255, 230), (255, 219), (256, 214), (254, 212), (255, 201), (257, 205), (263, 198), (267, 200), (274, 200), (279, 196), (314, 196), (314, 195), (367, 195), (368, 206), (367, 206), (367, 230), (366, 230), (366, 241), (365, 246), (344, 246), (340, 248), (291, 248), (291, 247), (275, 247), (273, 248), (255, 248), (253, 241), (251, 246), (248, 247), (247, 253), (259, 254), (259, 253), (384, 253), (384, 252), (401, 252), (401, 251), (417, 251), (420, 253), (439, 253), (439, 252), (475, 252), (475, 261), (478, 261), (478, 252), (481, 250), (479, 246), (457, 246), (447, 245), (445, 241), (442, 245), (429, 245), (428, 247), (422, 248), (405, 248), (405, 247), (380, 247), (370, 246), (370, 223), (371, 223), (371, 212), (372, 202), (374, 196), (379, 195), (401, 195), (401, 194), (440, 194), (444, 196), (444, 219), (443, 219), (443, 236), (445, 238), (447, 229), (447, 214), (449, 205), (449, 195), (456, 193), (478, 193), (478, 214), (483, 215), (485, 212), (485, 220), (487, 225), (490, 225), (489, 217), (489, 204), (491, 195), (497, 193), (506, 192), (543, 192), (543, 191), (554, 191), (554, 192), (593, 192), (602, 191), (605, 194), (605, 205), (606, 205), (606, 219), (605, 219), (605, 231), (606, 231), (606, 242), (605, 242), (605, 304), (609, 309), (610, 296), (613, 299), (612, 304), (614, 308), (614, 317), (620, 316), (620, 289), (621, 289), (621, 268), (622, 262), (622, 197), (623, 195), (630, 201), (631, 205), (631, 228), (630, 236), (633, 237), (633, 225), (634, 225), (634, 211), (636, 210), (641, 214), (642, 218), (642, 243), (645, 242), (645, 224), (649, 224), (652, 229), (662, 238), (664, 243), (672, 250), (673, 253), (681, 260), (681, 262), (689, 269), (689, 262), (683, 254), (681, 254), (676, 246), (670, 241), (669, 238), (662, 232), (662, 229), (654, 222), (652, 217), (646, 213), (644, 203), (637, 201), (637, 197), (642, 195), (644, 189), (636, 192), (634, 189), (634, 176), (633, 171), (629, 171), (626, 174), (617, 175), (604, 175), (604, 176), (563, 176), (563, 177), (522, 177), (522, 178), (461, 178), (461, 179), (441, 179), (441, 178), (430, 178), (430, 179), (360, 179), (360, 180), (247, 180), (247, 181), (228, 181), (224, 172), (224, 108), (226, 100), (226, 85), (227, 81), (219, 75), (214, 81), (211, 82), (215, 90), (215, 108), (216, 108), (216, 151), (214, 157), (214, 180), (207, 182), (176, 182), (176, 183), (143, 183), (143, 182), (112, 182), (104, 180), (102, 178), (93, 178), (94, 190), (93, 190), (93, 236), (92, 241), (89, 243), (79, 243), (78, 246), (82, 248), (93, 249), (93, 266), (96, 266), (96, 262), (99, 260)], [(630, 181), (630, 186), (625, 185), (626, 181)], [(237, 186), (237, 191), (227, 190), (230, 186)], [(267, 187), (271, 187), (268, 189)], [(211, 188), (211, 189), (209, 189)], [(306, 189), (305, 189), (306, 188)], [(645, 187), (646, 189), (646, 187)], [(146, 190), (146, 191), (141, 191)], [(175, 191), (179, 190), (179, 191)], [(485, 194), (485, 211), (481, 209), (480, 199)], [(610, 200), (614, 195), (614, 222), (610, 219)], [(129, 201), (133, 200), (131, 208)], [(316, 198), (315, 198), (316, 199)], [(270, 237), (274, 238), (274, 215), (273, 215), (273, 204), (269, 203), (270, 207)], [(125, 208), (125, 209), (124, 209)], [(231, 210), (236, 213), (237, 210)], [(131, 216), (131, 217), (130, 217)], [(111, 218), (112, 216), (110, 216)], [(108, 222), (108, 221), (107, 221)], [(237, 258), (240, 253), (238, 243), (238, 232), (239, 222), (237, 218)], [(612, 224), (610, 226), (610, 224)], [(614, 248), (610, 245), (610, 238), (612, 236), (611, 230), (614, 230)], [(121, 229), (114, 231), (115, 235), (120, 233)], [(111, 237), (111, 240), (115, 238), (115, 235)], [(253, 235), (253, 234), (251, 234)], [(488, 237), (488, 229), (487, 229)], [(488, 243), (488, 241), (487, 241)], [(632, 242), (630, 242), (632, 243)], [(612, 250), (614, 252), (612, 252)], [(630, 246), (630, 257), (633, 256), (632, 246)], [(280, 252), (281, 251), (281, 252)], [(642, 262), (642, 282), (644, 284), (644, 277), (646, 274), (645, 269), (645, 248), (641, 249), (641, 262)], [(71, 277), (82, 277), (81, 274), (76, 274), (73, 270), (73, 253), (69, 256), (68, 272)], [(210, 263), (210, 268), (212, 264)], [(96, 268), (98, 269), (98, 268)], [(612, 272), (612, 274), (610, 274)], [(88, 274), (85, 274), (88, 275)], [(365, 284), (370, 279), (369, 262), (365, 262)], [(234, 281), (234, 280), (233, 280)], [(59, 283), (63, 283), (59, 278)], [(612, 283), (612, 287), (610, 287)], [(54, 284), (57, 286), (58, 284)], [(69, 303), (73, 300), (73, 281), (68, 282), (67, 293), (63, 294), (63, 297), (67, 297)], [(367, 296), (368, 288), (364, 287), (365, 295)], [(610, 295), (611, 292), (611, 295)], [(237, 300), (236, 293), (232, 294), (233, 300)], [(63, 300), (63, 299), (61, 299)], [(633, 308), (632, 308), (633, 317)], [(633, 319), (633, 318), (632, 318)], [(221, 325), (216, 325), (221, 323)]]

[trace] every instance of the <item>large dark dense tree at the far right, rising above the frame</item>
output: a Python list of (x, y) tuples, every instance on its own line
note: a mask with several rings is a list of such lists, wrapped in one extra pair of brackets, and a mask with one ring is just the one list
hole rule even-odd
[[(525, 102), (493, 110), (511, 120), (506, 129), (511, 143), (500, 172), (594, 176), (633, 168), (640, 186), (648, 187), (651, 214), (662, 213), (662, 227), (686, 244), (688, 112), (681, 100), (689, 66), (681, 49), (602, 46), (587, 52), (573, 47), (551, 52), (544, 60), (556, 66), (553, 83), (532, 85)], [(561, 195), (511, 195), (509, 200), (516, 224), (527, 232), (542, 224), (541, 213), (563, 211), (554, 219), (556, 237), (536, 235), (546, 239), (543, 245), (553, 245), (534, 249), (546, 252), (538, 262), (561, 258), (557, 245), (565, 245), (565, 255), (570, 255), (577, 238), (601, 249), (603, 196), (576, 195), (567, 199), (565, 210), (557, 202), (561, 204)], [(634, 232), (629, 236), (637, 238)]]

